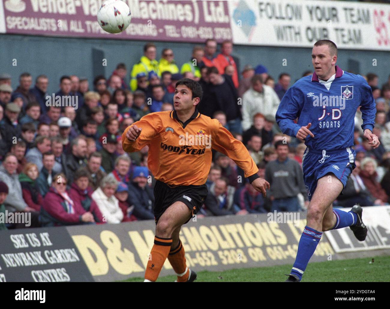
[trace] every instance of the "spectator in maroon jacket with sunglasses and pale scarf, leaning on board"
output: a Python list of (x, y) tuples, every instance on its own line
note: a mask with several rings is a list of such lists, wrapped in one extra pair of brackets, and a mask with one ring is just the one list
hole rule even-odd
[(40, 221), (42, 226), (61, 226), (94, 223), (91, 212), (85, 211), (79, 203), (75, 203), (66, 192), (67, 178), (65, 174), (56, 174), (43, 199)]

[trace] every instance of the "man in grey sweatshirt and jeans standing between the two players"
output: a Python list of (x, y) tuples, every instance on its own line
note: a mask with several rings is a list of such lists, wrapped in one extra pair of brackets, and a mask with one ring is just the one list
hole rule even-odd
[(275, 143), (277, 160), (266, 166), (265, 179), (270, 184), (270, 199), (273, 211), (299, 211), (298, 193), (305, 198), (308, 204), (307, 192), (303, 183), (303, 173), (298, 162), (288, 158), (289, 144), (279, 140)]

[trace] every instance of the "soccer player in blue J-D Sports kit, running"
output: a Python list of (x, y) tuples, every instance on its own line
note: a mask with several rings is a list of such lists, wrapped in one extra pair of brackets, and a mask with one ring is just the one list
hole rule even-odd
[[(336, 65), (337, 46), (319, 40), (312, 50), (314, 73), (302, 77), (285, 93), (276, 121), (283, 133), (305, 141), (302, 159), (303, 179), (310, 204), (307, 225), (287, 282), (299, 282), (324, 231), (349, 226), (359, 241), (367, 227), (362, 222), (362, 207), (351, 211), (333, 209), (352, 170), (355, 169), (353, 143), (354, 118), (362, 112), (364, 137), (372, 148), (379, 139), (372, 134), (375, 101), (370, 86), (360, 75), (344, 72)], [(298, 123), (294, 119), (298, 118)]]

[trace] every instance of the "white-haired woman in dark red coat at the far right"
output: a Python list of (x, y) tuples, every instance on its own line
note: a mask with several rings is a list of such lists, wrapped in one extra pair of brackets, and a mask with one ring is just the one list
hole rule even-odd
[(360, 173), (359, 176), (362, 178), (364, 185), (371, 195), (376, 199), (375, 204), (385, 205), (388, 202), (388, 196), (381, 187), (381, 185), (376, 181), (377, 173), (376, 168), (378, 164), (373, 158), (364, 158), (360, 162)]

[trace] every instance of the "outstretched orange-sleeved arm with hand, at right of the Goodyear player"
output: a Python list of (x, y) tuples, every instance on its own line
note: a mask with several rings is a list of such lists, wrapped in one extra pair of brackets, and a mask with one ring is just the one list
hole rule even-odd
[(269, 189), (269, 183), (257, 175), (259, 169), (254, 160), (249, 155), (248, 149), (242, 142), (236, 140), (233, 135), (225, 129), (216, 119), (213, 119), (218, 125), (211, 135), (212, 148), (232, 159), (243, 171), (244, 176), (248, 177), (249, 182), (264, 197), (266, 189)]

